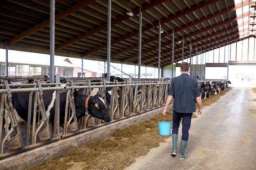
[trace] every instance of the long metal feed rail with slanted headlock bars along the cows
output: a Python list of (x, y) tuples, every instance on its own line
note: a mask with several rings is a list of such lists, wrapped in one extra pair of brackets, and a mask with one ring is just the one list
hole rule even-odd
[[(218, 80), (220, 81), (220, 80)], [(199, 81), (199, 83), (204, 81)], [(53, 85), (53, 87), (51, 87)], [(65, 87), (61, 85), (66, 85)], [(120, 121), (131, 116), (142, 114), (164, 106), (168, 97), (168, 88), (171, 81), (141, 81), (141, 82), (97, 82), (90, 81), (83, 83), (73, 83), (68, 80), (66, 84), (53, 83), (41, 84), (36, 81), (34, 84), (9, 85), (7, 81), (2, 81), (0, 85), (0, 159), (9, 157), (12, 154), (25, 151), (28, 149), (39, 147), (40, 145), (48, 144), (54, 140), (59, 140), (68, 136), (73, 136), (81, 132), (101, 127), (109, 123), (93, 118), (90, 115), (85, 115), (82, 119), (76, 119), (74, 90), (82, 89), (84, 94), (89, 95), (95, 88), (102, 94), (102, 98), (106, 103), (106, 89), (111, 89), (110, 105), (106, 106), (110, 111), (112, 121)], [(47, 86), (47, 87), (44, 87)], [(13, 89), (14, 88), (14, 89)], [(44, 91), (56, 90), (55, 99), (55, 117), (54, 127), (50, 130), (49, 118), (46, 116), (44, 108), (43, 93)], [(66, 92), (66, 110), (65, 121), (63, 128), (60, 127), (60, 93)], [(26, 126), (26, 146), (22, 141), (20, 126), (16, 120), (15, 110), (12, 105), (12, 93), (29, 93), (28, 104), (28, 120)], [(32, 106), (32, 95), (34, 94), (34, 106)], [(33, 113), (33, 115), (32, 115)], [(40, 115), (40, 116), (39, 116)], [(7, 118), (11, 121), (11, 130), (5, 134), (2, 140), (3, 119)], [(39, 120), (36, 123), (36, 120)], [(71, 123), (73, 121), (73, 123)], [(32, 125), (32, 127), (31, 127)], [(6, 127), (5, 127), (6, 128)], [(30, 134), (32, 132), (32, 134)], [(10, 140), (10, 138), (13, 136)], [(8, 140), (8, 141), (7, 141)], [(9, 150), (4, 152), (4, 144), (7, 141), (6, 147)], [(15, 149), (15, 150), (14, 150)]]

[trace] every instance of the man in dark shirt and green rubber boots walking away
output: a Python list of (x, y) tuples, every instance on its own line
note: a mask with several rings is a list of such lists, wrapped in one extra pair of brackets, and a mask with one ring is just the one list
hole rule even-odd
[(173, 103), (173, 118), (172, 118), (172, 156), (177, 154), (178, 130), (182, 118), (182, 137), (180, 146), (180, 160), (188, 157), (185, 154), (187, 141), (189, 139), (189, 130), (192, 113), (195, 111), (195, 102), (198, 103), (198, 115), (203, 114), (202, 100), (199, 92), (199, 85), (196, 79), (189, 76), (190, 64), (181, 63), (181, 76), (172, 79), (171, 89), (168, 93), (168, 98), (163, 110), (163, 115), (166, 115), (166, 110), (174, 98)]

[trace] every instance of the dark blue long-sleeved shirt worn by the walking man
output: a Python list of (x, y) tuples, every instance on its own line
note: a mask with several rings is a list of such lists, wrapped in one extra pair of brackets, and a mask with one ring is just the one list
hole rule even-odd
[(172, 106), (173, 110), (179, 113), (192, 113), (195, 111), (195, 98), (201, 94), (197, 80), (183, 73), (181, 76), (172, 79), (168, 95), (175, 98)]

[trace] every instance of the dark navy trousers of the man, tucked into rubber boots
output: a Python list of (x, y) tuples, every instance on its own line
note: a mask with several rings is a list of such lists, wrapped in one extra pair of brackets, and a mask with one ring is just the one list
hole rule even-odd
[(189, 139), (189, 130), (191, 124), (191, 117), (192, 113), (178, 113), (173, 110), (173, 117), (172, 117), (172, 134), (178, 134), (180, 122), (182, 118), (182, 140)]

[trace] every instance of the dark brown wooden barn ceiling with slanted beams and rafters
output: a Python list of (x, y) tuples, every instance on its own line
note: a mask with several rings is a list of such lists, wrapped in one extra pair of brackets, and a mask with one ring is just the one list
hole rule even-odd
[[(104, 60), (107, 52), (107, 0), (55, 0), (55, 55)], [(254, 36), (255, 0), (112, 0), (111, 62), (138, 61), (139, 8), (142, 11), (142, 65), (158, 64), (158, 25), (161, 23), (161, 66), (171, 64), (172, 30), (175, 62), (195, 46), (209, 51)], [(249, 6), (249, 10), (237, 9)], [(50, 0), (2, 0), (0, 48), (49, 54)], [(126, 13), (130, 11), (134, 17)], [(239, 22), (248, 17), (249, 20)], [(248, 25), (248, 27), (246, 27)], [(251, 26), (252, 25), (252, 26)], [(243, 27), (243, 29), (238, 28)], [(247, 33), (246, 33), (247, 32)], [(243, 33), (243, 34), (242, 34)], [(253, 32), (254, 33), (254, 32)]]

